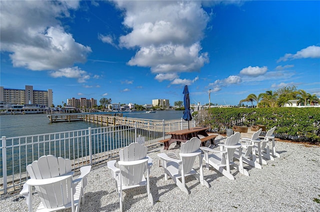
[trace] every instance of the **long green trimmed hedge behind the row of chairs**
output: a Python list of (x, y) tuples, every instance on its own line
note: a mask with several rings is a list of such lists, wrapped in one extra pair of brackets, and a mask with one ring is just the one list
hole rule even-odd
[(320, 142), (320, 108), (210, 108), (206, 115), (194, 115), (198, 124), (208, 126), (217, 133), (233, 125), (276, 126), (275, 136), (295, 141)]

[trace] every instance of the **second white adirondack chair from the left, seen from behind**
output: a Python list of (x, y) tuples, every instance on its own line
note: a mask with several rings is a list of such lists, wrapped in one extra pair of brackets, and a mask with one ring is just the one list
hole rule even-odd
[(122, 191), (140, 186), (146, 186), (148, 200), (153, 205), (149, 184), (152, 159), (146, 155), (146, 152), (146, 147), (139, 143), (131, 143), (119, 151), (119, 168), (115, 167), (115, 160), (107, 162), (107, 167), (111, 170), (112, 177), (115, 180), (115, 189), (118, 193), (121, 212), (123, 210)]

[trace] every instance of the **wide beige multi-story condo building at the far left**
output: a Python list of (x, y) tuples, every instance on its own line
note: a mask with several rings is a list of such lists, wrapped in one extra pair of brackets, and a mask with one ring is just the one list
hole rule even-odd
[(32, 85), (25, 85), (25, 89), (8, 89), (0, 86), (0, 102), (8, 102), (12, 105), (38, 104), (51, 107), (53, 103), (52, 89), (46, 91), (33, 90)]

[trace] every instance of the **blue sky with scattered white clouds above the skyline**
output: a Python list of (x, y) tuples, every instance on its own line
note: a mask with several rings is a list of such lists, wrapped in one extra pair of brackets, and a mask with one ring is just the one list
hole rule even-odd
[(0, 84), (67, 98), (237, 105), (320, 97), (320, 1), (0, 1)]

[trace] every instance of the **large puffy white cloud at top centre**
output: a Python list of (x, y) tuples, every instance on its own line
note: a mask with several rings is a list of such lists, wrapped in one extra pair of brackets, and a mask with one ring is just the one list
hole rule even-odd
[[(198, 71), (208, 62), (199, 41), (209, 15), (201, 1), (115, 1), (129, 32), (119, 45), (137, 47), (128, 65), (150, 67), (152, 73)], [(157, 75), (161, 81), (163, 75)]]

